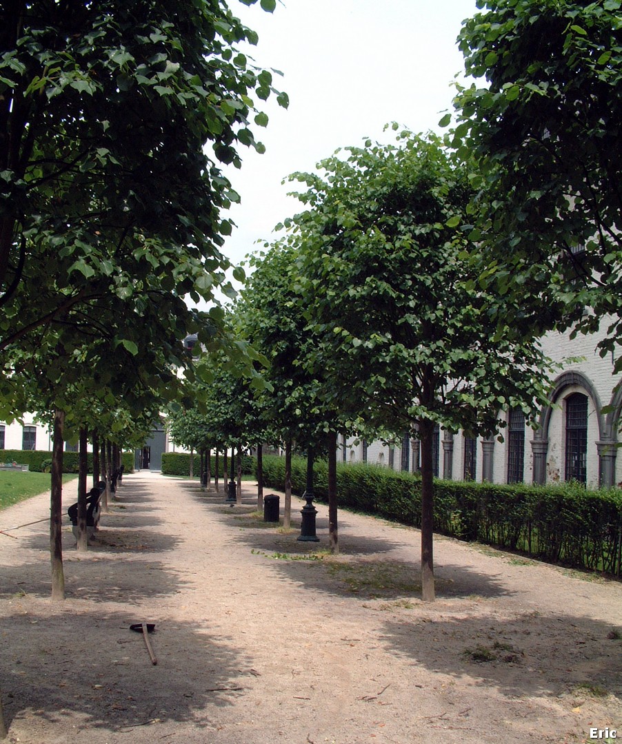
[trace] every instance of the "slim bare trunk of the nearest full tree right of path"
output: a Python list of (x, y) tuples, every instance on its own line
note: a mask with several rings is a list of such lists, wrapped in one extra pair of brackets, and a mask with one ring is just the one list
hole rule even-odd
[(419, 420), (421, 439), (421, 590), (424, 602), (434, 602), (434, 423)]

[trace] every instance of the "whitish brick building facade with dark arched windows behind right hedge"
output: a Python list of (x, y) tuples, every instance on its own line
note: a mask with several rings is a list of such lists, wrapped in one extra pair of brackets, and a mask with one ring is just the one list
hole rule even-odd
[[(603, 320), (604, 330), (607, 320)], [(502, 411), (507, 426), (498, 437), (472, 439), (440, 429), (434, 434), (434, 473), (448, 480), (551, 484), (578, 481), (588, 487), (622, 485), (622, 375), (614, 374), (611, 354), (600, 355), (602, 333), (577, 336), (549, 333), (542, 348), (560, 365), (539, 426), (527, 426), (521, 411)], [(419, 442), (340, 443), (349, 462), (419, 469)]]

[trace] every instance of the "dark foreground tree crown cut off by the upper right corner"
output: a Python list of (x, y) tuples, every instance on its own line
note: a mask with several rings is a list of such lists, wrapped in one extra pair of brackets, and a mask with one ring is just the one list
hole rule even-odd
[(611, 315), (604, 355), (622, 343), (621, 1), (477, 4), (458, 40), (486, 85), (459, 89), (454, 142), (480, 174), (482, 278), (518, 334)]

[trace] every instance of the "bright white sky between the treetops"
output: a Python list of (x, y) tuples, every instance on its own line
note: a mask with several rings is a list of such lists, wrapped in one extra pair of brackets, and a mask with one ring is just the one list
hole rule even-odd
[(276, 98), (265, 102), (270, 123), (253, 128), (266, 153), (242, 147), (241, 170), (227, 170), (241, 205), (229, 215), (238, 228), (223, 252), (238, 264), (299, 211), (285, 196), (292, 185), (281, 183), (289, 173), (314, 170), (337, 147), (367, 136), (393, 141), (393, 133), (383, 135), (391, 121), (439, 131), (442, 112), (451, 109), (451, 82), (463, 70), (456, 37), (477, 8), (475, 0), (283, 0), (273, 14), (258, 1), (246, 7), (230, 0), (229, 7), (258, 32), (250, 54), (284, 73), (275, 86), (290, 97), (287, 110)]

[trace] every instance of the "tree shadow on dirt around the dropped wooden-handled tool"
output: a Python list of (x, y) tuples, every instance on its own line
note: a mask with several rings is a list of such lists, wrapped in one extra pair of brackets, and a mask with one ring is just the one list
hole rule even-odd
[(25, 613), (16, 601), (13, 614), (0, 618), (0, 633), (19, 640), (0, 646), (4, 716), (18, 739), (29, 716), (39, 729), (68, 716), (77, 728), (119, 733), (149, 722), (158, 722), (159, 736), (172, 735), (176, 722), (208, 728), (211, 709), (234, 705), (256, 684), (253, 660), (235, 651), (232, 638), (213, 641), (207, 627), (157, 623), (153, 666), (142, 633), (130, 631), (142, 620), (131, 610), (94, 615), (65, 607)]

